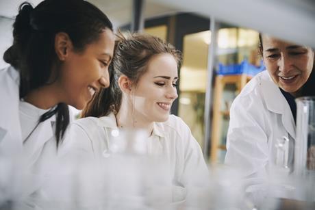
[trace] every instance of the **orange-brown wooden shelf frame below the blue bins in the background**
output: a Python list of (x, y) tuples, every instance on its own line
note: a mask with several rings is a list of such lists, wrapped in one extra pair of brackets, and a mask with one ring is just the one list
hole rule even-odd
[[(223, 107), (223, 91), (227, 84), (236, 86), (236, 93), (240, 93), (246, 83), (252, 78), (250, 75), (218, 75), (214, 83), (214, 105), (212, 118), (212, 134), (211, 134), (211, 151), (210, 161), (216, 163), (218, 161), (219, 150), (227, 150), (225, 143), (220, 141), (223, 132), (222, 120), (223, 117), (229, 117), (229, 109)], [(227, 133), (227, 131), (225, 131)]]

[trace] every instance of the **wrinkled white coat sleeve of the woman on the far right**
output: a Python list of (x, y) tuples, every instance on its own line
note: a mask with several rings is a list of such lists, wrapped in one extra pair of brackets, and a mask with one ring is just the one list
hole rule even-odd
[(225, 164), (240, 170), (247, 192), (262, 189), (268, 163), (266, 109), (257, 92), (238, 96), (231, 105)]

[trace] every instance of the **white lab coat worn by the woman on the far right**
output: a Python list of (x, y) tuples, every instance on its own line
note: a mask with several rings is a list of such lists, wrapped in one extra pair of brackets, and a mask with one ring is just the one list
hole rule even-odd
[(231, 105), (225, 163), (242, 169), (247, 192), (264, 185), (275, 140), (290, 140), (292, 164), (295, 122), (288, 102), (268, 71), (259, 73), (245, 86)]

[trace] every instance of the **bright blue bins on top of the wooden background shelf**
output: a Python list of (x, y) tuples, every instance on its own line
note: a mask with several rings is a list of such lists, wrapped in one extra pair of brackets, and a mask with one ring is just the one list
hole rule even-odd
[(265, 66), (262, 62), (260, 62), (260, 66), (254, 66), (253, 64), (249, 64), (247, 60), (242, 61), (240, 64), (232, 64), (232, 65), (223, 65), (218, 64), (218, 75), (251, 75), (255, 76), (257, 73), (260, 73), (262, 70), (265, 70)]

